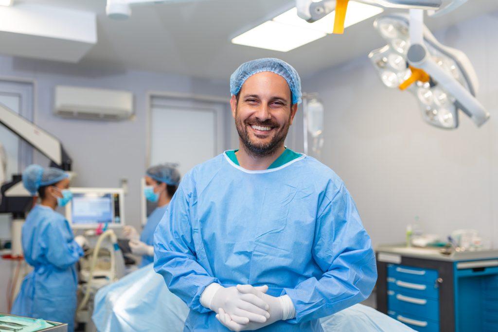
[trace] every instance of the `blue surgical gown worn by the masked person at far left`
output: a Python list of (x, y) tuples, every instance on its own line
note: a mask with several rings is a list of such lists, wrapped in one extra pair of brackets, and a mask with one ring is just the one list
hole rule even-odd
[(68, 221), (49, 207), (35, 206), (22, 226), (22, 249), (34, 269), (22, 281), (11, 313), (67, 323), (72, 332), (78, 286), (75, 263), (83, 250)]

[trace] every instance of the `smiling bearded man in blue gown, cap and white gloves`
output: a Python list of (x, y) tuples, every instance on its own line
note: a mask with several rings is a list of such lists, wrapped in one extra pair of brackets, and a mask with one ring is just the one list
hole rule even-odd
[(154, 268), (191, 309), (184, 331), (322, 331), (367, 298), (370, 237), (343, 181), (284, 146), (299, 75), (278, 59), (230, 80), (238, 150), (194, 167), (154, 234)]

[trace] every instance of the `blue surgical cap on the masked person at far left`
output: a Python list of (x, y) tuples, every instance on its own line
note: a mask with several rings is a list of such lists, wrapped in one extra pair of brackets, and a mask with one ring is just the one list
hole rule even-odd
[(56, 184), (68, 178), (66, 172), (55, 167), (43, 168), (40, 165), (29, 165), (22, 172), (22, 184), (31, 194), (35, 195), (40, 187)]

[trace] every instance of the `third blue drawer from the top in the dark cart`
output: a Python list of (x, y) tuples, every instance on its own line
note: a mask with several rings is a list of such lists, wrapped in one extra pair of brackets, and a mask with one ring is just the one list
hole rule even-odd
[(439, 301), (387, 291), (387, 309), (439, 322)]

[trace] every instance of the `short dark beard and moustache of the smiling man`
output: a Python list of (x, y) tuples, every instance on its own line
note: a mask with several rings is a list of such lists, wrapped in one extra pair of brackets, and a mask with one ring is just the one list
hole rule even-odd
[[(237, 127), (237, 132), (242, 141), (242, 146), (244, 150), (253, 157), (265, 157), (274, 153), (279, 147), (283, 145), (285, 137), (287, 137), (287, 132), (289, 131), (291, 117), (289, 115), (289, 120), (285, 125), (275, 132), (273, 137), (268, 143), (258, 144), (257, 142), (251, 141), (249, 138), (249, 131), (247, 127), (249, 125), (259, 125), (259, 126), (269, 126), (278, 127), (278, 123), (271, 120), (258, 121), (257, 119), (246, 119), (244, 123), (237, 115), (235, 116), (235, 126)], [(273, 129), (272, 129), (273, 130)]]

